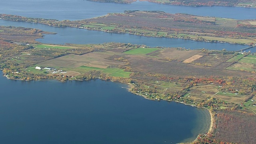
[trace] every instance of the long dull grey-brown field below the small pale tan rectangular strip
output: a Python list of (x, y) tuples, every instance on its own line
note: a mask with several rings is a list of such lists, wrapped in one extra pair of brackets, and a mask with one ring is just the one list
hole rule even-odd
[(150, 72), (155, 74), (170, 74), (172, 76), (244, 76), (247, 72), (218, 69), (178, 61), (164, 61), (147, 56), (130, 56), (128, 58), (134, 72)]

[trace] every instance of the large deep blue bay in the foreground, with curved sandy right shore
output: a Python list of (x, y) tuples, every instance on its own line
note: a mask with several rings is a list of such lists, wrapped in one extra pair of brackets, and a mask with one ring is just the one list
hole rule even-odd
[(1, 144), (170, 144), (192, 140), (210, 124), (205, 109), (146, 100), (120, 83), (0, 75)]

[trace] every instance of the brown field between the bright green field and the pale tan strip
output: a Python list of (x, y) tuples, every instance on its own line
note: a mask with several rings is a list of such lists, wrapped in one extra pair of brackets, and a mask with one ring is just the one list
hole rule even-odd
[(200, 50), (176, 50), (176, 49), (164, 49), (158, 54), (159, 58), (177, 59), (180, 61), (186, 60), (191, 56), (199, 54)]

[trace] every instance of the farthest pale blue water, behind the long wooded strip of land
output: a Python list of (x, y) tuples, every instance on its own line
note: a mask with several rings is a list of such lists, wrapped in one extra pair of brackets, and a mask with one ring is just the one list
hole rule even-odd
[(168, 13), (188, 13), (235, 19), (256, 18), (255, 8), (171, 6), (150, 2), (113, 4), (86, 0), (1, 0), (0, 4), (0, 13), (58, 20), (81, 20), (124, 10), (160, 10)]

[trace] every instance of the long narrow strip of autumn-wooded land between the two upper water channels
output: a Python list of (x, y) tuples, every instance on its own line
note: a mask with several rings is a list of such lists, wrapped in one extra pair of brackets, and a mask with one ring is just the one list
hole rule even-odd
[(125, 11), (86, 20), (52, 20), (0, 14), (3, 20), (35, 22), (49, 26), (84, 28), (103, 32), (128, 33), (148, 37), (181, 38), (231, 44), (256, 43), (256, 20), (235, 20), (169, 14), (160, 11)]

